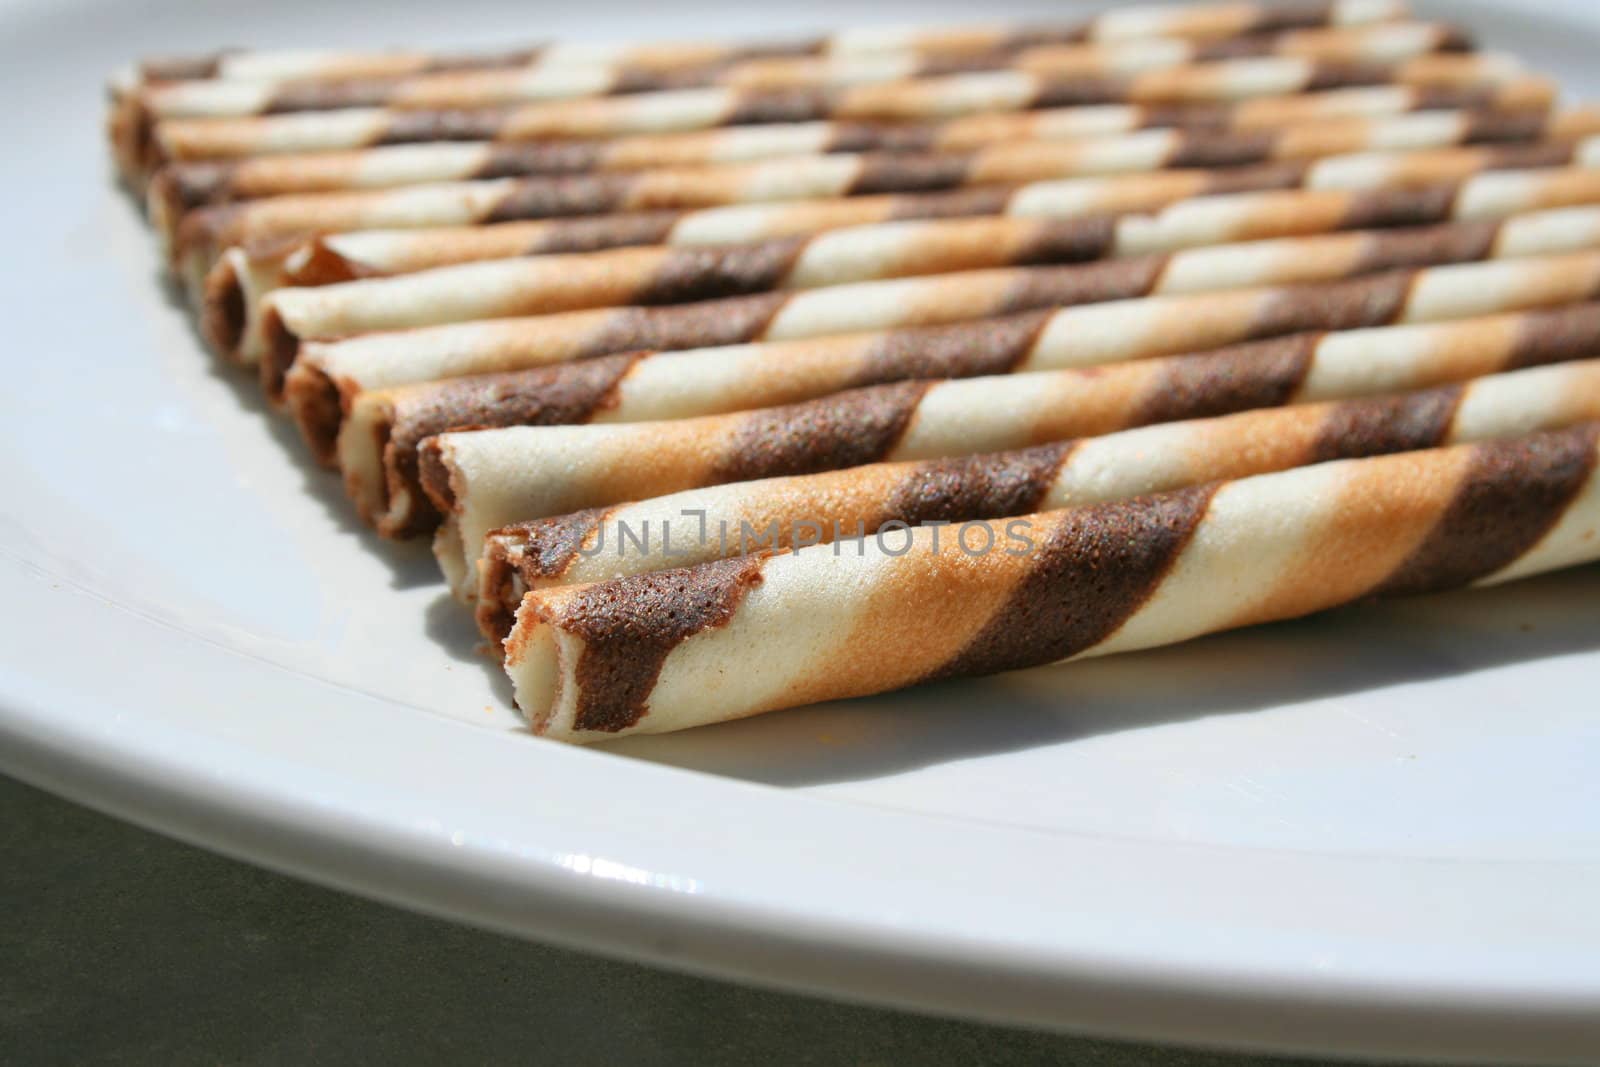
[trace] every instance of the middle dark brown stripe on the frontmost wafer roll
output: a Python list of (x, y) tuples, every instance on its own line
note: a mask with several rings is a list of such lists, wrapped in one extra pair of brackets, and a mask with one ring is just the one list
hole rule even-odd
[(1150, 598), (1214, 493), (1206, 485), (1064, 512), (1005, 606), (928, 678), (1035, 667), (1099, 645)]

